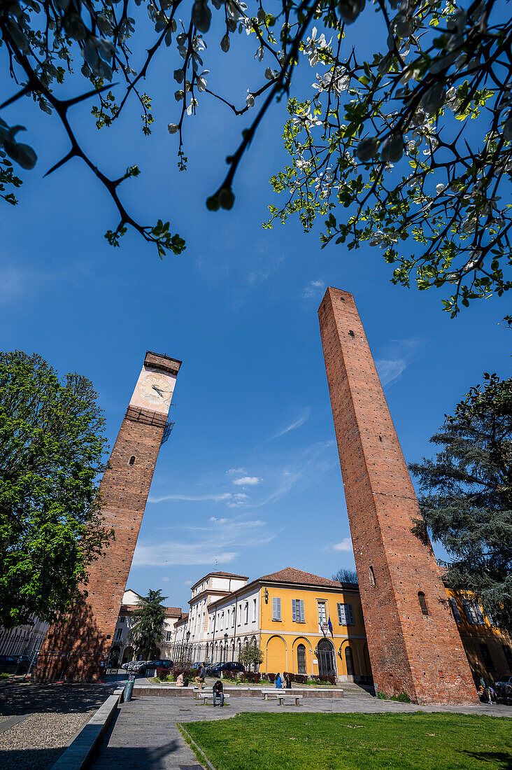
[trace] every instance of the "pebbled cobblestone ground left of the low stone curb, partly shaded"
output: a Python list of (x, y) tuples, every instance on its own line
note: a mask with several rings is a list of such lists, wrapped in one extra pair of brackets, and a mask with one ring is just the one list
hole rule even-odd
[[(112, 685), (5, 685), (0, 689), (0, 768), (44, 770), (109, 697)], [(21, 718), (2, 731), (2, 723)], [(14, 720), (13, 720), (14, 721)]]

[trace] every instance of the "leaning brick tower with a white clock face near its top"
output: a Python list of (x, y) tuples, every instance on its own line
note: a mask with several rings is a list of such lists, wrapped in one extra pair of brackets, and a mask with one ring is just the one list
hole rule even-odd
[(35, 669), (38, 679), (105, 676), (180, 366), (174, 358), (146, 353), (100, 485), (105, 527), (114, 529), (115, 541), (92, 563), (85, 601), (50, 626)]

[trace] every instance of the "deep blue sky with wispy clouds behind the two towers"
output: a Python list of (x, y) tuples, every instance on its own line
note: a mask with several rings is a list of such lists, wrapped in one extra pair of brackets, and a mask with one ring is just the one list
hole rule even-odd
[[(229, 57), (212, 44), (205, 62), (211, 85), (237, 104), (258, 82), (242, 42)], [(139, 164), (123, 198), (145, 222), (170, 219), (186, 252), (161, 261), (132, 233), (112, 249), (103, 233), (115, 213), (89, 172), (72, 162), (42, 179), (67, 146), (57, 122), (27, 100), (3, 113), (28, 126), (39, 161), (23, 174), (22, 203), (2, 207), (0, 328), (5, 350), (34, 351), (62, 373), (91, 378), (111, 446), (145, 351), (182, 359), (176, 427), (156, 467), (129, 586), (162, 588), (169, 604), (186, 607), (189, 585), (216, 568), (257, 577), (293, 566), (330, 577), (353, 566), (316, 316), (327, 285), (356, 298), (407, 461), (430, 454), (443, 414), (484, 371), (509, 373), (510, 332), (497, 324), (510, 300), (480, 301), (450, 320), (440, 293), (392, 286), (379, 249), (321, 250), (319, 231), (304, 235), (296, 222), (264, 230), (276, 200), (268, 180), (285, 161), (283, 104), (243, 159), (233, 210), (209, 213), (204, 201), (247, 118), (206, 95), (189, 119), (189, 170), (180, 174), (166, 129), (176, 121), (176, 85), (161, 75), (147, 84), (151, 139), (139, 132), (136, 108), (100, 135), (86, 109), (74, 119), (112, 176)], [(301, 65), (296, 95), (313, 79)]]

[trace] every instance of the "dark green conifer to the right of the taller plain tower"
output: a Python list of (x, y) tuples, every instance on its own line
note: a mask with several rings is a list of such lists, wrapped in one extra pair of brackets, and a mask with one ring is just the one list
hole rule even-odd
[(442, 447), (410, 466), (423, 522), (446, 549), (448, 584), (473, 591), (512, 630), (512, 379), (484, 374), (430, 441)]

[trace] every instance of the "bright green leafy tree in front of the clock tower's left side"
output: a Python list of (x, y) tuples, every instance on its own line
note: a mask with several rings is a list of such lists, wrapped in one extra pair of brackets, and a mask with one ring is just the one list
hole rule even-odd
[(0, 353), (0, 623), (51, 621), (72, 603), (112, 531), (98, 497), (102, 410), (80, 374)]

